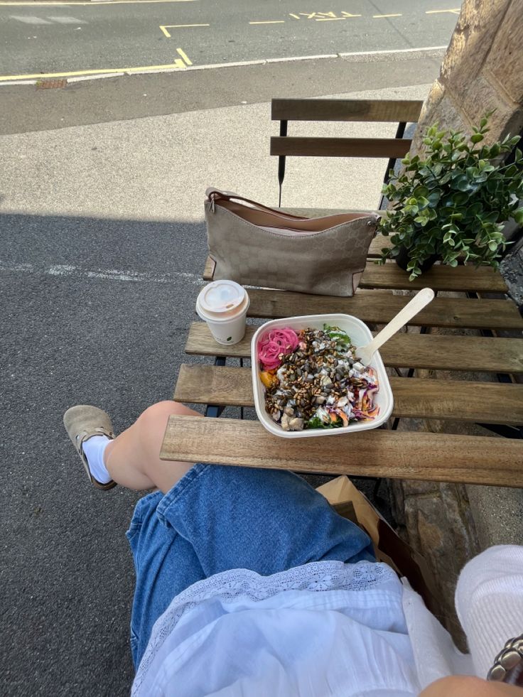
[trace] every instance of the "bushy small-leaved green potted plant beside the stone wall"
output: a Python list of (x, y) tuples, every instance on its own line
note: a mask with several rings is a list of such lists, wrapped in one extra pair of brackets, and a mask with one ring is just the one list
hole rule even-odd
[(497, 268), (509, 244), (502, 223), (514, 218), (523, 224), (523, 155), (516, 148), (514, 161), (502, 155), (514, 149), (519, 136), (507, 136), (492, 145), (483, 144), (489, 131), (487, 114), (468, 138), (460, 131), (438, 131), (430, 126), (424, 137), (425, 151), (401, 161), (399, 175), (382, 193), (392, 208), (378, 230), (391, 235), (392, 247), (382, 249), (377, 264), (396, 259), (414, 280), (441, 259), (458, 266), (458, 259)]

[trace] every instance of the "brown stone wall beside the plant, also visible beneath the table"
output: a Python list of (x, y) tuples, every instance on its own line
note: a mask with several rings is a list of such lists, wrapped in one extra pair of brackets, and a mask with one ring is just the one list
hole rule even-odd
[[(424, 129), (436, 121), (442, 129), (471, 133), (471, 126), (479, 124), (485, 112), (492, 109), (495, 113), (490, 119), (487, 141), (522, 131), (523, 0), (463, 2), (440, 76), (422, 109), (411, 153), (423, 148)], [(478, 379), (478, 376), (441, 372), (426, 377)], [(485, 431), (473, 424), (465, 426), (448, 421), (401, 420), (399, 425), (400, 430), (416, 427), (433, 432), (485, 435)], [(431, 566), (441, 598), (440, 618), (463, 648), (463, 634), (453, 611), (455, 581), (468, 559), (486, 546), (503, 541), (478, 535), (476, 512), (469, 501), (476, 488), (409, 481), (390, 482), (389, 487), (399, 532)], [(503, 490), (500, 492), (503, 495)], [(495, 514), (493, 511), (492, 515)]]

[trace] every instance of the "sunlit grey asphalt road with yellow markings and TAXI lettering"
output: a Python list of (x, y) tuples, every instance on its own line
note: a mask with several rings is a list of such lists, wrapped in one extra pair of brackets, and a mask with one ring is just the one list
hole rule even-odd
[(0, 2), (0, 80), (446, 46), (455, 0)]

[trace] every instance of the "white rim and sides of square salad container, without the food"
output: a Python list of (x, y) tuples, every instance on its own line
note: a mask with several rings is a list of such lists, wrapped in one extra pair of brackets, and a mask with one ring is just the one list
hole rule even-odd
[(382, 357), (375, 352), (371, 366), (376, 370), (379, 380), (379, 390), (374, 395), (374, 403), (379, 406), (379, 414), (372, 421), (355, 421), (342, 428), (310, 428), (303, 431), (284, 431), (278, 423), (265, 411), (265, 386), (259, 378), (257, 345), (260, 337), (271, 329), (289, 327), (295, 331), (313, 327), (323, 329), (323, 325), (339, 327), (350, 336), (352, 345), (364, 346), (372, 340), (372, 333), (362, 320), (352, 315), (303, 315), (303, 317), (287, 317), (281, 320), (271, 320), (262, 325), (252, 337), (251, 364), (252, 364), (252, 389), (254, 392), (254, 406), (259, 420), (264, 427), (274, 436), (280, 438), (315, 438), (316, 436), (340, 436), (355, 431), (370, 431), (385, 423), (392, 414), (394, 399), (389, 383), (389, 377), (385, 372)]

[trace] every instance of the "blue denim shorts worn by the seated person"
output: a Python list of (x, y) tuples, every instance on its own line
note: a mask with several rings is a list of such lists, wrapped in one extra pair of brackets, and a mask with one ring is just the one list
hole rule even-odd
[(375, 561), (369, 537), (298, 475), (194, 465), (168, 494), (134, 509), (131, 652), (137, 667), (154, 622), (196, 581), (247, 568), (264, 576), (311, 561)]

